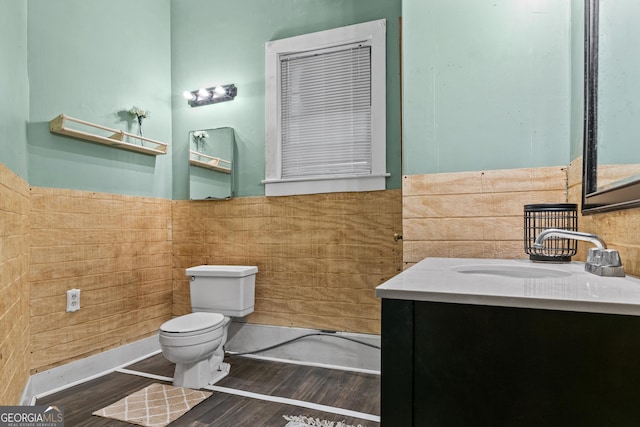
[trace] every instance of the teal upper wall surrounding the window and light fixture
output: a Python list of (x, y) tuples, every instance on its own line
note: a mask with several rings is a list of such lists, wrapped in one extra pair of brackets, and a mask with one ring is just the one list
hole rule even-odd
[[(401, 0), (173, 0), (172, 98), (175, 199), (188, 198), (190, 130), (236, 131), (236, 195), (264, 195), (264, 44), (375, 19), (387, 19), (387, 188), (400, 188)], [(185, 90), (234, 83), (233, 102), (190, 108)]]

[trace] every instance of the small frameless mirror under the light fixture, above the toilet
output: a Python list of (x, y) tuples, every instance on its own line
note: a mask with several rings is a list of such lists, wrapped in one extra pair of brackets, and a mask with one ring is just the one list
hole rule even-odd
[(233, 197), (233, 128), (189, 132), (189, 198), (220, 200)]

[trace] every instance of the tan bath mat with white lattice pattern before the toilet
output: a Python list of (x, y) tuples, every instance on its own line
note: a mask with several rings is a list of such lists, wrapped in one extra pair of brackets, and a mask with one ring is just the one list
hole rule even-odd
[(162, 427), (211, 396), (211, 392), (151, 384), (93, 413), (145, 427)]

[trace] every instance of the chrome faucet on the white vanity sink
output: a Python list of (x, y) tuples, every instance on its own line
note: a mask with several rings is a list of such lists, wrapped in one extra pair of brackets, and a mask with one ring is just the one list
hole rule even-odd
[(624, 277), (624, 268), (620, 254), (615, 249), (607, 249), (606, 243), (595, 234), (582, 233), (580, 231), (562, 230), (560, 228), (547, 228), (536, 237), (533, 246), (544, 248), (544, 241), (550, 237), (563, 237), (565, 239), (583, 240), (594, 244), (587, 253), (585, 271), (607, 277)]

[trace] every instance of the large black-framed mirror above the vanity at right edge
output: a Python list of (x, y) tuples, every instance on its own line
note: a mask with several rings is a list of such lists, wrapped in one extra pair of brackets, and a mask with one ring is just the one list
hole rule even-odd
[(582, 212), (640, 206), (640, 2), (585, 0)]

